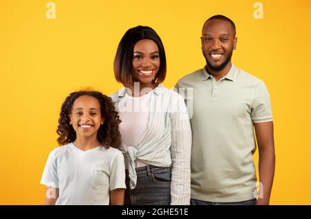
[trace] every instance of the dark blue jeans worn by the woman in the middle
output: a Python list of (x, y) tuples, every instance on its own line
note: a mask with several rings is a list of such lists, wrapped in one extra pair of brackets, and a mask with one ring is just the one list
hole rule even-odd
[(124, 205), (171, 204), (171, 167), (142, 166), (135, 169), (135, 189), (129, 189), (129, 172), (126, 170)]

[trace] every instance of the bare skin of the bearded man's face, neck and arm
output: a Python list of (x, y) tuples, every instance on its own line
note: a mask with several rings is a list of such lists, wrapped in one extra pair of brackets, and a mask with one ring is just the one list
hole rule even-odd
[[(229, 72), (232, 50), (236, 49), (236, 32), (229, 21), (212, 19), (202, 28), (202, 52), (207, 61), (207, 72), (218, 81)], [(227, 64), (225, 64), (227, 61)], [(223, 68), (217, 69), (222, 64)], [(275, 155), (273, 122), (254, 123), (259, 151), (259, 182), (263, 187), (263, 198), (257, 205), (269, 204), (274, 179)]]

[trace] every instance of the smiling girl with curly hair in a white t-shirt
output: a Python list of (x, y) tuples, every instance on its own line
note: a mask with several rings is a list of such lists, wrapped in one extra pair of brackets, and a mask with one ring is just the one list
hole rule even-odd
[(124, 158), (119, 116), (111, 98), (97, 91), (71, 93), (62, 104), (57, 142), (41, 184), (45, 204), (123, 204)]

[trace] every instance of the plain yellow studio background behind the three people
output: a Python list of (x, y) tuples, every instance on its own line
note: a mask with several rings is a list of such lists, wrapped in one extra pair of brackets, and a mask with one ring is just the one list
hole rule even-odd
[[(39, 184), (64, 98), (91, 87), (108, 95), (121, 88), (113, 58), (124, 32), (154, 28), (167, 52), (164, 85), (205, 65), (200, 48), (204, 21), (231, 18), (238, 45), (233, 61), (265, 81), (272, 99), (276, 173), (271, 204), (311, 204), (311, 2), (261, 1), (0, 1), (0, 204), (43, 204)], [(254, 155), (258, 163), (258, 151)], [(258, 166), (258, 165), (257, 165)]]

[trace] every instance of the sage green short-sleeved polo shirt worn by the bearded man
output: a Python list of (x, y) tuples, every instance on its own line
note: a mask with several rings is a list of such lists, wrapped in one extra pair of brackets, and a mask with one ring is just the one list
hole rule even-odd
[(232, 64), (218, 82), (202, 68), (182, 77), (176, 88), (189, 91), (185, 102), (192, 128), (191, 198), (208, 202), (254, 198), (253, 123), (272, 121), (263, 81)]

